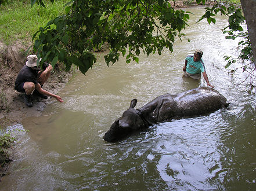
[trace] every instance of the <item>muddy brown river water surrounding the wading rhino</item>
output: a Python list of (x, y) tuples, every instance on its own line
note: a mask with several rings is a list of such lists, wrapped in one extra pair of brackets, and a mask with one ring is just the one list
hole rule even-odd
[[(228, 75), (224, 54), (237, 55), (237, 41), (225, 39), (217, 24), (195, 24), (203, 8), (187, 9), (191, 42), (176, 41), (174, 53), (139, 57), (107, 67), (103, 55), (87, 74), (78, 74), (40, 117), (20, 128), (16, 155), (0, 190), (241, 190), (256, 189), (255, 95), (239, 84), (243, 72)], [(199, 82), (182, 78), (185, 57), (204, 52), (211, 85), (230, 106), (196, 117), (156, 124), (114, 144), (103, 140), (115, 119), (165, 93), (180, 93)], [(237, 64), (236, 66), (239, 66)], [(248, 81), (247, 81), (248, 82)]]

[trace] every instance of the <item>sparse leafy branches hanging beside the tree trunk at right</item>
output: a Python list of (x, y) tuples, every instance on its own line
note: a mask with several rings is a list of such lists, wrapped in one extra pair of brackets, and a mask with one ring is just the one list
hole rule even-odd
[[(214, 2), (215, 4), (212, 6), (212, 8), (205, 8), (205, 14), (200, 18), (200, 20), (207, 19), (209, 24), (215, 23), (216, 20), (213, 17), (216, 16), (218, 12), (221, 12), (229, 18), (229, 25), (223, 29), (223, 33), (227, 34), (226, 39), (240, 39), (240, 42), (238, 43), (240, 50), (239, 56), (237, 58), (225, 56), (225, 60), (228, 61), (228, 63), (225, 65), (225, 68), (228, 68), (231, 64), (236, 63), (238, 60), (241, 60), (242, 62), (253, 60), (253, 51), (251, 49), (248, 30), (243, 29), (243, 25), (245, 25), (246, 20), (242, 14), (240, 6), (236, 4), (237, 1), (229, 1), (232, 2), (232, 4), (229, 4), (228, 6), (223, 5), (222, 1), (215, 0)], [(243, 68), (243, 72), (248, 72), (247, 78), (250, 77), (250, 87), (253, 89), (253, 82), (255, 80), (254, 65), (250, 62), (243, 65), (243, 67), (232, 69), (230, 72), (233, 73), (240, 68)]]

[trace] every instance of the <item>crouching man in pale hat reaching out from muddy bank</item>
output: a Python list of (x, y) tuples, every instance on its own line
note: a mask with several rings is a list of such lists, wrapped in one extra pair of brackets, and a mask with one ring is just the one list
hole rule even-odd
[(25, 93), (24, 102), (27, 106), (33, 106), (31, 95), (47, 99), (47, 96), (56, 98), (57, 101), (63, 102), (60, 96), (50, 93), (42, 89), (42, 85), (49, 78), (52, 65), (44, 63), (42, 65), (42, 71), (40, 67), (37, 67), (37, 55), (30, 55), (27, 57), (26, 65), (21, 68), (15, 81), (15, 90)]

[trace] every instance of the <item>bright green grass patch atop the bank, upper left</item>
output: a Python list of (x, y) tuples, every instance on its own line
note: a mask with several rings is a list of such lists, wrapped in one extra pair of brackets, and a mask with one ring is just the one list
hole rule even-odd
[(64, 5), (68, 0), (58, 0), (53, 4), (48, 1), (46, 8), (38, 5), (30, 6), (30, 1), (11, 1), (0, 6), (0, 41), (6, 45), (13, 42), (31, 42), (31, 38), (39, 27), (44, 27), (49, 20), (64, 14)]

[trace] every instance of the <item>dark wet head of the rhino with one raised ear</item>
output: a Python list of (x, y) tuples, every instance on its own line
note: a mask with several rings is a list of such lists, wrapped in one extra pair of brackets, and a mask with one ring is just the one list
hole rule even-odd
[(143, 122), (143, 119), (140, 117), (139, 111), (134, 109), (136, 104), (136, 99), (131, 101), (129, 109), (122, 113), (122, 116), (119, 117), (111, 125), (109, 131), (105, 133), (103, 137), (105, 141), (115, 142), (118, 141), (118, 139), (121, 139), (131, 134), (133, 131), (147, 127), (146, 124)]

